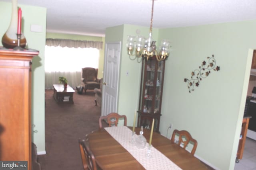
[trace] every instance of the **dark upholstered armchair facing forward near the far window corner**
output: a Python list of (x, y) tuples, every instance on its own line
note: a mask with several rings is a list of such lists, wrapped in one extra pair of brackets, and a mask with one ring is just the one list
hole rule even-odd
[(97, 78), (98, 68), (85, 67), (82, 68), (81, 81), (84, 83), (84, 92), (86, 90), (94, 90), (94, 88), (100, 89), (100, 80)]

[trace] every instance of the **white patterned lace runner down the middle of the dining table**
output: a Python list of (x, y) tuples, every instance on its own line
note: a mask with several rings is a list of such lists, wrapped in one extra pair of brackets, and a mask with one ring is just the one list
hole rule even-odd
[(147, 157), (148, 143), (144, 149), (138, 149), (134, 143), (130, 143), (132, 131), (128, 127), (105, 127), (104, 129), (140, 162), (146, 170), (182, 170), (154, 147), (151, 147), (152, 156)]

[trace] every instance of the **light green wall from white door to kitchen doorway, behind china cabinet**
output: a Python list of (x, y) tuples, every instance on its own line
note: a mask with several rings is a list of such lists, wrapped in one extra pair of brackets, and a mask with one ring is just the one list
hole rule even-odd
[[(252, 49), (256, 49), (256, 21), (221, 23), (194, 27), (153, 29), (153, 39), (169, 39), (166, 60), (160, 132), (188, 130), (197, 139), (196, 156), (216, 169), (233, 170), (246, 100)], [(138, 109), (141, 64), (127, 55), (127, 35), (136, 29), (148, 37), (148, 28), (120, 25), (106, 29), (106, 43), (122, 42), (118, 113), (133, 123)], [(203, 78), (188, 92), (184, 78), (214, 55), (220, 71)], [(129, 76), (126, 76), (126, 71)], [(173, 130), (172, 129), (172, 130)], [(172, 131), (168, 131), (170, 138)]]

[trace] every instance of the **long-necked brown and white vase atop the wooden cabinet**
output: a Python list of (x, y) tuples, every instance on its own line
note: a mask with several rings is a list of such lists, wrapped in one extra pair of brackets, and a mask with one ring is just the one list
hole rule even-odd
[[(18, 38), (17, 38), (17, 29), (18, 29), (18, 6), (17, 0), (12, 0), (12, 18), (10, 25), (4, 33), (2, 37), (2, 44), (4, 47), (8, 49), (13, 49), (18, 46)], [(20, 47), (24, 48), (26, 46), (26, 38), (23, 33), (21, 33), (20, 37)]]

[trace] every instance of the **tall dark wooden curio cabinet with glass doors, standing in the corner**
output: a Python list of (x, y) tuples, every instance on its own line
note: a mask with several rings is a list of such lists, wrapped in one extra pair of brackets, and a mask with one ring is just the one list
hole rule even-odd
[(142, 60), (137, 127), (143, 126), (144, 128), (151, 129), (154, 118), (154, 131), (159, 132), (164, 66), (165, 61), (157, 61), (156, 57)]

